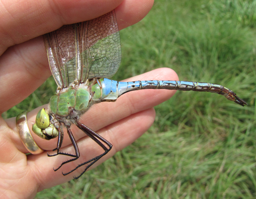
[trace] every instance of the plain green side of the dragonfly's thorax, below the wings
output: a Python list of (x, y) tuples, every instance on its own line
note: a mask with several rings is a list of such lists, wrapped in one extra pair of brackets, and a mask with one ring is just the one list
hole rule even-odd
[(84, 87), (72, 87), (56, 92), (50, 99), (53, 114), (66, 117), (71, 108), (83, 112), (88, 108), (91, 95)]

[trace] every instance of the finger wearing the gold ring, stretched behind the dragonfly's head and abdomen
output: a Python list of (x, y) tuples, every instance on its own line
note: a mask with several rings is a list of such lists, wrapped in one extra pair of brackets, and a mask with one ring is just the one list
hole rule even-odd
[[(127, 79), (127, 81), (156, 79), (178, 80), (178, 76), (173, 70), (162, 68)], [(102, 102), (93, 105), (89, 109), (89, 111), (81, 117), (80, 122), (87, 125), (94, 131), (97, 131), (125, 117), (129, 117), (135, 113), (154, 107), (167, 100), (168, 98), (172, 97), (174, 93), (175, 91), (169, 90), (142, 90), (129, 92), (118, 98), (116, 102)], [(45, 107), (47, 107), (47, 105)], [(32, 124), (34, 124), (35, 116), (40, 108), (41, 107), (38, 107), (37, 109), (32, 110), (32, 112), (28, 114), (28, 123), (31, 129), (31, 134), (35, 139), (35, 142), (42, 149), (52, 150), (57, 145), (57, 139), (47, 141), (34, 135), (32, 131)], [(11, 118), (6, 121), (8, 122), (10, 128), (16, 130), (15, 118)], [(78, 130), (75, 125), (72, 125), (71, 129), (76, 140), (79, 140), (80, 138), (86, 136), (81, 130)], [(24, 145), (19, 141), (19, 138), (13, 138), (13, 142), (16, 143), (16, 146), (19, 150), (23, 152), (28, 152)], [(62, 146), (64, 147), (70, 144), (70, 139), (65, 132)]]

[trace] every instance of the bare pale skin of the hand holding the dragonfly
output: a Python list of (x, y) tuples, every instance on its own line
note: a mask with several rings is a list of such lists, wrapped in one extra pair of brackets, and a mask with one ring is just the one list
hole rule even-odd
[[(0, 112), (1, 114), (27, 98), (41, 85), (51, 72), (48, 65), (42, 34), (116, 11), (119, 30), (141, 20), (152, 8), (153, 0), (84, 0), (84, 1), (33, 1), (0, 2)], [(85, 12), (86, 11), (86, 12)], [(170, 69), (157, 69), (125, 81), (178, 80)], [(80, 122), (89, 126), (113, 144), (112, 150), (90, 169), (112, 157), (117, 151), (133, 143), (154, 122), (154, 106), (174, 95), (175, 91), (144, 90), (130, 92), (116, 102), (103, 102), (91, 107)], [(144, 99), (144, 100), (141, 100)], [(45, 105), (44, 107), (47, 107)], [(28, 113), (30, 130), (39, 108)], [(102, 149), (75, 126), (72, 132), (80, 150), (78, 160), (61, 167), (67, 156), (48, 157), (56, 148), (57, 139), (43, 140), (33, 134), (35, 142), (45, 150), (29, 154), (16, 130), (15, 118), (0, 117), (0, 198), (33, 198), (35, 194), (73, 179), (84, 168), (63, 176), (77, 164), (102, 153)], [(74, 153), (65, 133), (61, 151)], [(69, 158), (68, 158), (69, 159)], [(89, 169), (89, 170), (90, 170)]]

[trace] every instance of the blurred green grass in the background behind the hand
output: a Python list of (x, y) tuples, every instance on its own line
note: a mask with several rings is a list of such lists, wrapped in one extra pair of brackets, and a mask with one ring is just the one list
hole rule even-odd
[[(180, 80), (225, 85), (249, 105), (177, 92), (156, 107), (154, 125), (135, 143), (36, 198), (255, 198), (255, 11), (255, 0), (159, 0), (122, 30), (114, 79), (168, 67)], [(47, 80), (4, 117), (48, 103), (54, 84)]]

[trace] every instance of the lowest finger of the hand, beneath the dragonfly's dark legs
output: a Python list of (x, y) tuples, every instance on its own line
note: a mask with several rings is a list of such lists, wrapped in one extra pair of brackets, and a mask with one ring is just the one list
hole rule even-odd
[[(98, 162), (90, 167), (90, 169), (95, 168), (105, 160), (112, 157), (117, 151), (133, 143), (152, 125), (154, 118), (155, 110), (151, 108), (119, 120), (118, 122), (101, 129), (98, 133), (106, 140), (110, 141), (113, 144), (113, 148), (108, 154), (103, 156)], [(29, 170), (36, 175), (34, 179), (40, 179), (40, 181), (37, 182), (39, 184), (38, 191), (72, 180), (73, 175), (78, 176), (86, 166), (82, 166), (66, 176), (63, 176), (62, 172), (69, 172), (78, 164), (88, 161), (104, 152), (102, 148), (89, 137), (79, 140), (78, 145), (80, 158), (77, 161), (63, 165), (56, 172), (53, 171), (53, 167), (58, 167), (63, 161), (70, 159), (69, 157), (47, 157), (45, 153), (40, 154), (40, 158), (38, 158), (38, 156), (28, 157)], [(64, 147), (62, 150), (74, 153), (74, 148), (72, 146)]]

